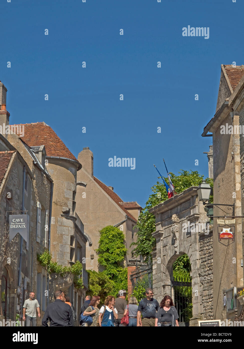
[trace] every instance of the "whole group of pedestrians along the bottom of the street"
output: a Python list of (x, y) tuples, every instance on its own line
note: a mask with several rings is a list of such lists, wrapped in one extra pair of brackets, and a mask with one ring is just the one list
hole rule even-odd
[[(131, 296), (127, 304), (125, 290), (120, 290), (117, 298), (108, 296), (99, 308), (100, 296), (86, 296), (81, 308), (81, 327), (169, 327), (179, 326), (179, 315), (170, 296), (164, 296), (160, 304), (153, 298), (153, 290), (145, 290), (146, 297), (139, 304), (136, 297)], [(47, 305), (42, 326), (74, 326), (76, 311), (68, 295), (63, 291), (56, 291), (55, 301)], [(40, 317), (40, 308), (34, 300), (34, 292), (24, 303), (23, 320), (26, 317), (26, 326), (36, 326), (36, 311)], [(28, 322), (27, 322), (28, 320)], [(88, 321), (89, 320), (89, 321)], [(48, 325), (49, 321), (49, 325)]]

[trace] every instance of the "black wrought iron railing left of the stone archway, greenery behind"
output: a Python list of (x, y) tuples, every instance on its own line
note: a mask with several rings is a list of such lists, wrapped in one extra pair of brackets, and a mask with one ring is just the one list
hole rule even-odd
[(137, 265), (134, 272), (131, 273), (132, 293), (137, 285), (142, 285), (144, 289), (152, 288), (152, 263), (149, 260), (147, 264)]

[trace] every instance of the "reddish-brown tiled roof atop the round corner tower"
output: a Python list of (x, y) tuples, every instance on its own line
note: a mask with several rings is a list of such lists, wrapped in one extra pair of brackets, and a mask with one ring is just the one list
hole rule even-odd
[(66, 157), (78, 161), (64, 142), (53, 131), (52, 127), (45, 122), (34, 122), (24, 125), (24, 136), (21, 139), (29, 147), (45, 145), (47, 156)]

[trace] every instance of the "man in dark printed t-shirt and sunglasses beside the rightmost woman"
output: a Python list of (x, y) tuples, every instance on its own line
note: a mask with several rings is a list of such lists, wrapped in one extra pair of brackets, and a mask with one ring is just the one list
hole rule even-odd
[(159, 304), (156, 299), (152, 298), (154, 292), (151, 288), (147, 288), (145, 293), (146, 298), (143, 298), (138, 306), (136, 326), (141, 326), (140, 317), (142, 313), (142, 326), (155, 327), (156, 312), (159, 309)]

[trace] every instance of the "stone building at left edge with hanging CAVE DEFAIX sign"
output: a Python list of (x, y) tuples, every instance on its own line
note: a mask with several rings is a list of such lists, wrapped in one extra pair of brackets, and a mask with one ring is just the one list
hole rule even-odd
[[(1, 127), (9, 120), (3, 104), (6, 92), (0, 83)], [(41, 315), (46, 309), (47, 272), (37, 261), (37, 253), (48, 247), (53, 180), (30, 148), (22, 144), (16, 150), (11, 136), (0, 134), (0, 320), (15, 321), (30, 291), (38, 298)], [(19, 233), (9, 238), (11, 215), (26, 216), (25, 239)]]

